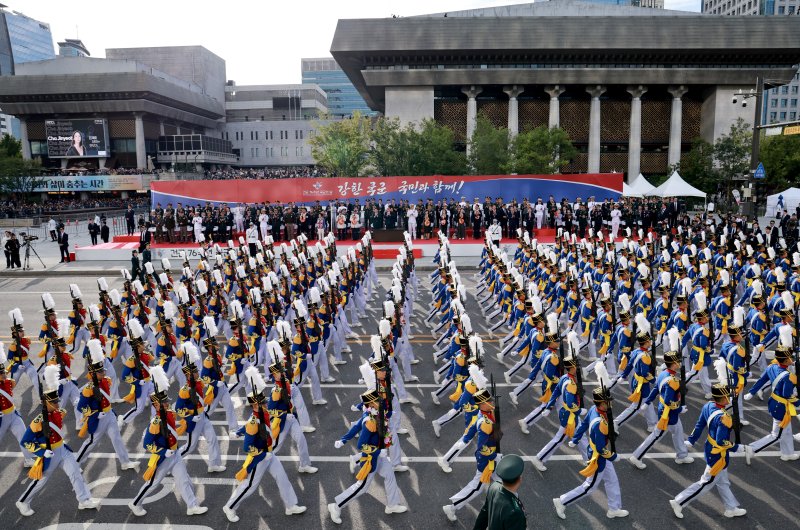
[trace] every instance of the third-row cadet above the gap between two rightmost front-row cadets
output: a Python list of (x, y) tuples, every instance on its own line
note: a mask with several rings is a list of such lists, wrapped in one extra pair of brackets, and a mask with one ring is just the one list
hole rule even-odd
[(656, 425), (656, 414), (653, 406), (646, 402), (647, 396), (650, 395), (652, 381), (655, 379), (656, 361), (650, 352), (653, 339), (650, 336), (650, 323), (644, 315), (639, 313), (634, 320), (637, 326), (636, 341), (639, 343), (639, 347), (631, 352), (630, 362), (611, 384), (611, 388), (613, 388), (620, 379), (630, 377), (631, 394), (628, 396), (628, 401), (631, 404), (616, 419), (615, 429), (619, 429), (640, 411), (644, 411), (647, 432), (653, 432)]

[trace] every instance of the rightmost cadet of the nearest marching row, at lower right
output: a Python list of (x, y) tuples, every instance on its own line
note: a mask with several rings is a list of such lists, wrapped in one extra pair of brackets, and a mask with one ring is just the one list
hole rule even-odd
[(728, 386), (728, 372), (725, 368), (725, 361), (717, 368), (718, 382), (711, 387), (712, 401), (703, 405), (700, 417), (694, 426), (692, 434), (686, 445), (693, 446), (702, 436), (703, 431), (708, 429), (708, 436), (705, 443), (706, 468), (700, 480), (689, 485), (688, 488), (680, 492), (674, 499), (669, 501), (675, 517), (683, 519), (683, 509), (693, 500), (699, 498), (713, 488), (717, 487), (722, 503), (725, 505), (723, 515), (728, 518), (741, 517), (747, 514), (747, 510), (739, 507), (739, 501), (733, 496), (731, 491), (731, 481), (728, 478), (728, 464), (730, 456), (728, 453), (742, 451), (743, 447), (738, 443), (731, 442), (731, 430), (734, 424), (732, 418), (726, 411), (730, 404), (730, 387)]

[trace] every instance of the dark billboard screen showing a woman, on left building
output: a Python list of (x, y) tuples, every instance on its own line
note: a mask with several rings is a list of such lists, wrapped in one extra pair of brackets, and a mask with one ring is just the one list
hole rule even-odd
[(45, 120), (50, 158), (107, 157), (108, 122), (102, 119)]

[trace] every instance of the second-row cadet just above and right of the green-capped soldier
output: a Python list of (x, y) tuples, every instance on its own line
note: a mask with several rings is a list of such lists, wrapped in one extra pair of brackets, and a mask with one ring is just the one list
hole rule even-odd
[[(623, 295), (624, 296), (624, 295)], [(564, 355), (564, 375), (561, 376), (556, 384), (550, 401), (545, 405), (543, 416), (548, 416), (557, 402), (561, 402), (558, 410), (559, 427), (556, 434), (549, 442), (533, 457), (533, 467), (539, 471), (547, 471), (545, 462), (550, 460), (556, 449), (564, 443), (565, 439), (572, 439), (575, 436), (575, 427), (580, 418), (581, 408), (583, 407), (583, 381), (578, 374), (578, 350), (580, 349), (580, 339), (578, 334), (570, 331), (567, 335), (567, 353)]]

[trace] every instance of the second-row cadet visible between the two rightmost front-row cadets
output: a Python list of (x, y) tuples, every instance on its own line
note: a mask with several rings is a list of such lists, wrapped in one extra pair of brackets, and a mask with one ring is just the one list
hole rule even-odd
[(664, 353), (666, 370), (658, 374), (658, 379), (650, 395), (645, 399), (645, 404), (650, 405), (658, 398), (658, 423), (650, 436), (637, 447), (630, 457), (630, 463), (638, 469), (644, 469), (647, 464), (642, 462), (644, 455), (669, 431), (672, 435), (672, 446), (675, 448), (676, 464), (691, 464), (694, 458), (689, 456), (689, 451), (684, 444), (683, 423), (681, 423), (681, 407), (684, 389), (678, 372), (680, 371), (682, 357), (680, 353), (681, 339), (677, 328), (667, 332), (669, 351)]

